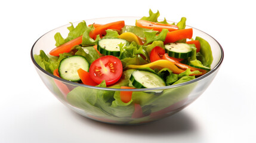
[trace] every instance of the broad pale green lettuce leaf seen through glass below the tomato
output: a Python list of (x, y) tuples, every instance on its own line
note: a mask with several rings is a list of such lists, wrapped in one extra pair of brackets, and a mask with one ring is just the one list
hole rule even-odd
[[(103, 81), (98, 87), (106, 88), (106, 82)], [(134, 112), (132, 101), (125, 104), (120, 99), (120, 93), (115, 93), (115, 91), (78, 86), (67, 94), (67, 101), (69, 104), (81, 108), (87, 114), (105, 117), (106, 119), (131, 117)], [(127, 119), (124, 118), (124, 120)]]

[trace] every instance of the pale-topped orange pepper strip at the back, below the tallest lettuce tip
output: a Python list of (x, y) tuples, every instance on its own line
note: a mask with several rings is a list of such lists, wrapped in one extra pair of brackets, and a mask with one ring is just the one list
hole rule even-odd
[(178, 26), (173, 24), (162, 24), (147, 20), (136, 20), (135, 25), (146, 29), (153, 29), (159, 32), (161, 32), (162, 29), (168, 29), (169, 32), (178, 30)]

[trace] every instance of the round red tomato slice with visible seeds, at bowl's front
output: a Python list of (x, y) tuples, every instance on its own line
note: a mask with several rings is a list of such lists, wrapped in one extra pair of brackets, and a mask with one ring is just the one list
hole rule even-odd
[(113, 55), (106, 55), (91, 63), (89, 73), (94, 82), (100, 84), (103, 80), (106, 85), (116, 83), (122, 76), (122, 62)]

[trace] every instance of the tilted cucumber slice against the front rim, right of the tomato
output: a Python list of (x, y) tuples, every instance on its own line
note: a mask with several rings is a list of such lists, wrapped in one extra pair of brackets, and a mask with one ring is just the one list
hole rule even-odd
[(144, 70), (133, 71), (129, 80), (131, 80), (135, 88), (158, 88), (166, 86), (164, 80), (158, 74)]

